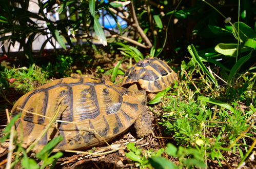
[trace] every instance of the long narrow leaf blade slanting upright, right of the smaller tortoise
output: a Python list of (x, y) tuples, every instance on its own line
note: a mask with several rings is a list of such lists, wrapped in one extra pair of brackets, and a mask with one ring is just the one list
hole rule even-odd
[(193, 59), (199, 64), (199, 66), (201, 67), (201, 69), (209, 76), (209, 78), (214, 82), (216, 87), (219, 87), (215, 77), (209, 72), (209, 70), (205, 67), (205, 65), (203, 64), (202, 60), (200, 59), (198, 52), (196, 52), (194, 46), (191, 44), (190, 46), (188, 46), (188, 52), (190, 53), (190, 55), (193, 57)]

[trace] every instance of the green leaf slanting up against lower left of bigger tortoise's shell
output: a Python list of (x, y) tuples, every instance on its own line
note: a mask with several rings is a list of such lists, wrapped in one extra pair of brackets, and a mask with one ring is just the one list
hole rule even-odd
[(54, 147), (57, 146), (57, 144), (60, 143), (62, 140), (63, 140), (63, 136), (61, 135), (55, 137), (43, 147), (41, 152), (37, 153), (35, 156), (41, 160), (44, 160), (51, 154)]

